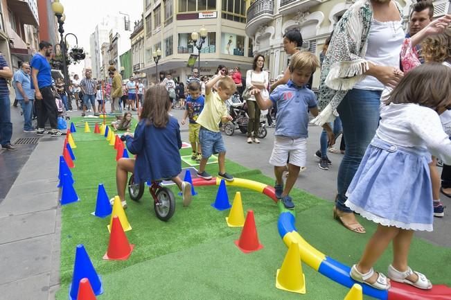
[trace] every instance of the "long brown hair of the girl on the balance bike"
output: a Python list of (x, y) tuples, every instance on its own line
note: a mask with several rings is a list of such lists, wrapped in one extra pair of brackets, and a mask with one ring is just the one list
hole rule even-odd
[(154, 85), (145, 91), (141, 120), (147, 119), (147, 125), (166, 127), (169, 121), (170, 98), (166, 87)]

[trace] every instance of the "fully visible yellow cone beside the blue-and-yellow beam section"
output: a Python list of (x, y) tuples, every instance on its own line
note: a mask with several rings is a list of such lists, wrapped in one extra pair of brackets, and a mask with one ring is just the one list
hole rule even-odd
[(299, 245), (295, 241), (288, 248), (282, 267), (277, 270), (276, 288), (306, 294), (306, 276), (302, 272)]

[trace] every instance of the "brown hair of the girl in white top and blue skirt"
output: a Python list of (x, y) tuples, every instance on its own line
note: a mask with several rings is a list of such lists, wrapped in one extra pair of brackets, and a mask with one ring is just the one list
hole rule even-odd
[(451, 104), (451, 68), (427, 62), (405, 74), (391, 92), (390, 103), (417, 103), (436, 109)]

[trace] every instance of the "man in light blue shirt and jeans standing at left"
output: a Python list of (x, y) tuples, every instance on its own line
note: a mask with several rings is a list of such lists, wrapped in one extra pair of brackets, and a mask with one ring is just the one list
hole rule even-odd
[(19, 100), (24, 114), (24, 132), (33, 132), (31, 116), (33, 114), (35, 90), (31, 89), (30, 64), (28, 62), (22, 62), (21, 68), (14, 73), (13, 80), (16, 99)]

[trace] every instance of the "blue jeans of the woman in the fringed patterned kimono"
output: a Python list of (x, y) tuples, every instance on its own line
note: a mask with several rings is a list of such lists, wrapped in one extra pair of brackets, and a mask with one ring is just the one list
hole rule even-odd
[(337, 178), (338, 195), (335, 206), (340, 211), (351, 212), (351, 209), (344, 205), (346, 191), (360, 166), (366, 147), (378, 129), (380, 94), (382, 91), (351, 89), (337, 107), (346, 143)]

